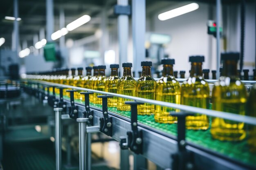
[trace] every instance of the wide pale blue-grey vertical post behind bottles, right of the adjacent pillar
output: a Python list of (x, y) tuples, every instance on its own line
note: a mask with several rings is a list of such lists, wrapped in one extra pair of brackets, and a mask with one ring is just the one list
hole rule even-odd
[(132, 0), (133, 70), (135, 77), (145, 60), (146, 1)]

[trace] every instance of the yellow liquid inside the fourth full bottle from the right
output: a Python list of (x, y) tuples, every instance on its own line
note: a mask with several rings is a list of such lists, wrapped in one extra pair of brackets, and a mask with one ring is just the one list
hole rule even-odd
[[(148, 80), (147, 80), (148, 79)], [(141, 77), (136, 82), (135, 94), (136, 97), (145, 99), (155, 99), (156, 82), (150, 77)], [(152, 115), (155, 113), (155, 106), (153, 104), (138, 105), (138, 115)]]

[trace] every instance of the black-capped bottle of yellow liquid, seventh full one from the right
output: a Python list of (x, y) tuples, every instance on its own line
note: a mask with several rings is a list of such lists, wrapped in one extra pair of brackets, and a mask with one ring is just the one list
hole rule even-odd
[[(105, 65), (98, 66), (99, 75), (94, 81), (94, 89), (97, 91), (106, 91), (106, 75), (105, 75)], [(95, 104), (102, 104), (102, 99), (98, 98), (98, 95), (102, 95), (101, 93), (94, 93)]]

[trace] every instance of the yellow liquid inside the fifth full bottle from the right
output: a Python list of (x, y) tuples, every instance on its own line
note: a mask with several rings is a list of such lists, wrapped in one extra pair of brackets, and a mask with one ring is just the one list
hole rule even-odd
[[(136, 81), (131, 76), (122, 77), (117, 85), (117, 93), (121, 95), (135, 96), (135, 85)], [(130, 105), (125, 104), (130, 99), (124, 99), (121, 97), (117, 98), (117, 110), (129, 111), (131, 110)]]

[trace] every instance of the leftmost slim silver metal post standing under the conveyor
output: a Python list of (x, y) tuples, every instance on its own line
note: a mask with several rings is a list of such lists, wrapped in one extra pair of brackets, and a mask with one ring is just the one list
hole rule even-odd
[(55, 111), (55, 150), (56, 170), (61, 170), (61, 111), (63, 108), (54, 108)]

